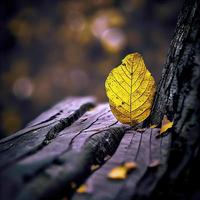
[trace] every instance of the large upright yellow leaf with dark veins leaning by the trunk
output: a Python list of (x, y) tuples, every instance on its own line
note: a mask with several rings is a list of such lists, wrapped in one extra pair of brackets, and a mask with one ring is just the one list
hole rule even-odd
[(105, 82), (110, 108), (118, 121), (135, 125), (150, 114), (155, 81), (138, 53), (127, 55)]

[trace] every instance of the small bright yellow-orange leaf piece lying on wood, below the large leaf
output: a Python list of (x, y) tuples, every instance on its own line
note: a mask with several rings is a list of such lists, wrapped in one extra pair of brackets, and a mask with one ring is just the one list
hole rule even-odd
[(110, 179), (125, 179), (127, 177), (127, 169), (124, 166), (117, 166), (113, 168), (109, 174), (108, 178)]

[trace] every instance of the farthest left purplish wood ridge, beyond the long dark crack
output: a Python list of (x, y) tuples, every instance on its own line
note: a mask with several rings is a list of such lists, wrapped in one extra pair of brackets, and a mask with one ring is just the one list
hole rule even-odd
[(2, 139), (0, 169), (43, 148), (45, 141), (50, 140), (50, 137), (56, 137), (59, 130), (69, 126), (93, 106), (93, 98), (69, 98), (36, 118), (23, 130)]

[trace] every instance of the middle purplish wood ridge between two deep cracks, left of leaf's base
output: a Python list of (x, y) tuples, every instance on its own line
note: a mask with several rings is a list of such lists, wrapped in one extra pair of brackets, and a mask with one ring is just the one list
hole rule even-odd
[[(114, 153), (126, 128), (113, 117), (108, 104), (101, 104), (86, 112), (62, 130), (55, 129), (56, 125), (57, 123), (49, 125), (48, 131), (45, 131), (46, 127), (39, 129), (37, 138), (35, 135), (30, 137), (31, 134), (35, 134), (30, 132), (15, 140), (12, 139), (14, 146), (5, 149), (8, 151), (6, 154), (2, 152), (5, 158), (10, 151), (12, 153), (21, 150), (25, 151), (25, 154), (18, 156), (14, 161), (11, 159), (13, 162), (8, 162), (8, 167), (1, 171), (0, 185), (3, 185), (0, 187), (0, 193), (3, 194), (1, 199), (23, 199), (27, 197), (26, 195), (29, 199), (43, 199), (50, 193), (52, 198), (57, 198), (72, 180), (79, 183), (80, 177), (89, 176), (91, 171), (88, 169), (92, 164), (101, 165), (105, 162), (104, 157)], [(18, 142), (15, 144), (15, 141), (20, 141), (23, 137), (30, 142), (25, 140), (21, 146)], [(43, 141), (42, 145), (34, 151), (29, 151), (28, 145), (32, 150), (38, 140)], [(68, 170), (70, 166), (72, 169)], [(9, 192), (11, 190), (12, 192)]]

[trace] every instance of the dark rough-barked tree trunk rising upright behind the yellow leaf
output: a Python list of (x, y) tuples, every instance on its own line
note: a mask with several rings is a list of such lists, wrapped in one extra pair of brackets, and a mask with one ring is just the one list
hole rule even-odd
[(200, 198), (199, 89), (200, 2), (188, 0), (179, 16), (151, 115), (152, 123), (160, 123), (164, 114), (174, 121), (168, 167), (159, 184), (165, 197)]

